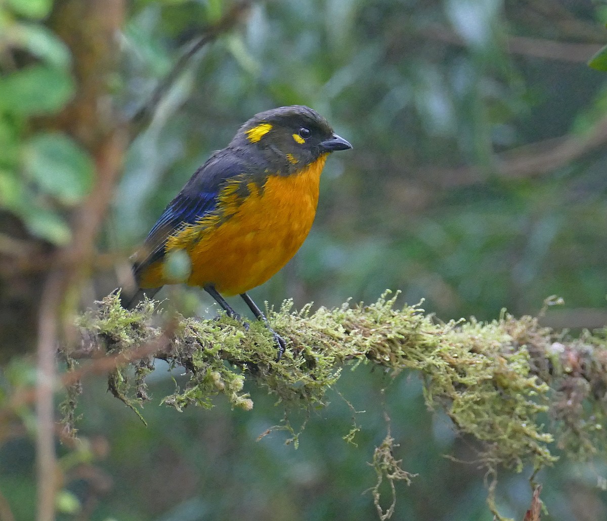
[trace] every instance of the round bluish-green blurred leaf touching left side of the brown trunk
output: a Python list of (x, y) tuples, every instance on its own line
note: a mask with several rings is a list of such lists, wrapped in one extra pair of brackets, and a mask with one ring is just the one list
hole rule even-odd
[(24, 149), (25, 171), (42, 191), (66, 205), (80, 202), (93, 186), (93, 161), (64, 134), (39, 134)]

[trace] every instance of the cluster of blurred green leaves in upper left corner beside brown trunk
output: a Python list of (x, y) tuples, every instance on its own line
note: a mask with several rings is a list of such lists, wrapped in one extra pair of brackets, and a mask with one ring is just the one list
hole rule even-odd
[(34, 236), (64, 245), (65, 210), (90, 192), (93, 171), (72, 138), (36, 130), (36, 118), (57, 114), (75, 89), (69, 50), (36, 23), (50, 9), (52, 1), (0, 5), (0, 208)]

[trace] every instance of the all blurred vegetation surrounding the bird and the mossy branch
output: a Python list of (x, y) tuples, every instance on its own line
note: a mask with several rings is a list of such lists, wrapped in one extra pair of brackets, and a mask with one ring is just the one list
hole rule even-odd
[[(23, 392), (36, 370), (55, 373), (56, 339), (126, 282), (128, 255), (194, 169), (270, 107), (314, 107), (354, 150), (330, 158), (310, 237), (254, 298), (331, 307), (398, 288), (398, 304), (425, 298), (439, 319), (486, 320), (558, 295), (544, 324), (604, 327), (607, 90), (586, 62), (606, 21), (590, 0), (0, 2), (0, 519), (55, 501), (35, 500), (52, 387)], [(159, 296), (217, 312), (192, 288)], [(152, 399), (180, 374), (157, 366)], [(156, 400), (148, 427), (103, 376), (83, 385), (80, 441), (57, 447), (59, 519), (376, 519), (363, 492), (384, 412), (419, 474), (397, 485), (392, 519), (490, 519), (474, 447), (426, 409), (415, 374), (346, 371), (297, 450), (280, 431), (256, 441), (284, 411), (253, 383), (251, 411)], [(365, 411), (358, 448), (342, 440), (353, 410), (340, 393)], [(523, 518), (531, 472), (500, 475), (504, 515)], [(606, 476), (600, 454), (542, 471), (546, 517), (605, 519)]]

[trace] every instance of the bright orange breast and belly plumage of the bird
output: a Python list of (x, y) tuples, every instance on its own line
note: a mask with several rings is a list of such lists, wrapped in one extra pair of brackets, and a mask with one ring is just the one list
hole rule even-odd
[[(191, 259), (187, 284), (214, 284), (224, 295), (237, 295), (263, 284), (287, 264), (314, 221), (326, 158), (297, 174), (270, 175), (262, 188), (249, 183), (246, 197), (234, 191), (220, 196), (219, 206), (229, 218), (204, 218), (171, 237), (165, 250), (183, 249)], [(161, 264), (146, 270), (141, 287), (168, 283)]]

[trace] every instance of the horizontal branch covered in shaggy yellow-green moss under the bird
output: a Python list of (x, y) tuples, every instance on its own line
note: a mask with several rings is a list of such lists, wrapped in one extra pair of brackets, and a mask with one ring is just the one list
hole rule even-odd
[[(480, 460), (490, 470), (549, 465), (556, 460), (555, 440), (575, 458), (605, 454), (603, 331), (566, 338), (541, 327), (537, 318), (505, 312), (491, 322), (440, 322), (418, 305), (395, 309), (394, 304), (395, 298), (383, 295), (371, 305), (347, 303), (315, 312), (306, 305), (293, 312), (287, 301), (269, 316), (290, 341), (276, 362), (276, 347), (262, 324), (245, 330), (225, 315), (215, 320), (177, 316), (163, 332), (152, 325), (158, 322), (156, 302), (127, 311), (112, 295), (78, 320), (83, 344), (65, 354), (128, 356), (141, 346), (155, 346), (143, 358), (129, 358), (135, 378), (116, 369), (112, 392), (125, 403), (145, 400), (144, 376), (153, 356), (188, 370), (186, 386), (162, 400), (178, 410), (209, 407), (219, 393), (232, 406), (251, 409), (253, 401), (243, 392), (246, 375), (279, 401), (307, 408), (324, 404), (345, 366), (375, 364), (393, 374), (415, 370), (427, 405), (441, 407), (458, 432), (479, 441)], [(168, 341), (158, 342), (163, 335)]]

